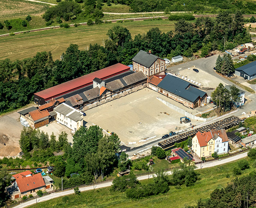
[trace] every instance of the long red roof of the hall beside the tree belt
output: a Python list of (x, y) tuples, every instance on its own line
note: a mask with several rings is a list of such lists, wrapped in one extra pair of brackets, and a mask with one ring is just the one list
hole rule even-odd
[(65, 93), (68, 93), (68, 92), (74, 91), (76, 89), (80, 89), (82, 87), (90, 85), (90, 84), (92, 84), (92, 80), (95, 77), (98, 77), (99, 79), (104, 80), (104, 79), (107, 79), (114, 75), (118, 75), (120, 73), (128, 71), (129, 69), (130, 69), (130, 67), (128, 67), (122, 63), (117, 63), (112, 66), (106, 67), (104, 69), (94, 71), (94, 72), (84, 75), (82, 77), (78, 77), (76, 79), (67, 81), (60, 85), (56, 85), (54, 87), (50, 87), (43, 91), (34, 93), (34, 95), (42, 97), (45, 100), (49, 100), (52, 97), (58, 97), (60, 95), (64, 95)]

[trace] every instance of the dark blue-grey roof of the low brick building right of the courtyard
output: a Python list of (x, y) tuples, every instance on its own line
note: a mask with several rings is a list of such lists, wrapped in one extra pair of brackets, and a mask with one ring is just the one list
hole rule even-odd
[(189, 82), (170, 74), (167, 74), (157, 86), (192, 103), (197, 101), (198, 98), (207, 95), (204, 91), (195, 88)]

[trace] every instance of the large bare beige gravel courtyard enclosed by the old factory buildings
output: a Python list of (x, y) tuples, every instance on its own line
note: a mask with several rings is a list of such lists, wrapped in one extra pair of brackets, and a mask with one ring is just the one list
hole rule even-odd
[[(104, 130), (114, 131), (126, 145), (149, 137), (162, 137), (190, 124), (180, 124), (182, 114), (170, 109), (156, 97), (172, 101), (151, 89), (145, 88), (125, 97), (105, 103), (86, 111), (84, 120), (87, 125), (98, 125)], [(164, 112), (168, 113), (164, 114)], [(200, 121), (193, 121), (193, 124)]]

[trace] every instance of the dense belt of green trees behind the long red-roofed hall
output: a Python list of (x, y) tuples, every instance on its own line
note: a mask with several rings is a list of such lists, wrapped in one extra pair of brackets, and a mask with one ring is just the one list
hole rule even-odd
[[(241, 12), (234, 16), (220, 12), (216, 19), (197, 18), (194, 23), (180, 19), (175, 31), (162, 33), (158, 28), (133, 39), (121, 26), (112, 27), (104, 46), (90, 45), (79, 50), (71, 44), (60, 60), (54, 61), (51, 52), (38, 52), (23, 60), (0, 60), (0, 113), (28, 104), (33, 94), (65, 81), (91, 73), (115, 63), (128, 65), (139, 50), (151, 50), (160, 57), (184, 55), (191, 57), (201, 51), (202, 57), (213, 50), (229, 49), (230, 45), (250, 42)], [(225, 37), (225, 38), (223, 38)]]

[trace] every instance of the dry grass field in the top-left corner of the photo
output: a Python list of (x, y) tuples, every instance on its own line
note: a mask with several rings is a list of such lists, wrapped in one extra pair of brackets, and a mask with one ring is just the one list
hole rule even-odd
[(26, 17), (30, 15), (43, 14), (49, 5), (29, 2), (24, 0), (1, 0), (0, 1), (0, 20)]

